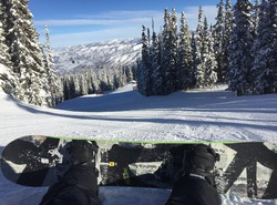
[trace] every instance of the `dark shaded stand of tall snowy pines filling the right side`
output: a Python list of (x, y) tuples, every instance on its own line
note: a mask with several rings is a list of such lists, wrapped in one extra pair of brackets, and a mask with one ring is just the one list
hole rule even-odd
[(177, 28), (175, 9), (164, 11), (157, 34), (143, 25), (138, 90), (164, 95), (178, 90), (227, 83), (237, 95), (277, 92), (276, 12), (274, 0), (229, 0), (217, 4), (216, 23), (208, 25), (202, 7), (196, 31), (182, 12)]

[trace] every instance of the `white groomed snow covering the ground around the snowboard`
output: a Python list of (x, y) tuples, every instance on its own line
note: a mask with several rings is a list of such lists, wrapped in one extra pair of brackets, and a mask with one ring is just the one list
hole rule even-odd
[[(0, 92), (0, 152), (28, 134), (126, 141), (268, 141), (277, 142), (277, 94), (236, 96), (224, 86), (142, 96), (134, 84), (103, 95), (86, 95), (38, 107)], [(39, 204), (47, 187), (24, 187), (0, 174), (1, 205)], [(170, 189), (101, 187), (104, 205), (161, 205)], [(277, 204), (222, 195), (224, 205)]]

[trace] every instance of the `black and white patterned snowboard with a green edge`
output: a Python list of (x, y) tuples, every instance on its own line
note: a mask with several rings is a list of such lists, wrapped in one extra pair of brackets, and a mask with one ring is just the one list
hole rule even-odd
[[(1, 154), (1, 171), (13, 183), (50, 186), (72, 165), (69, 146), (73, 139), (23, 136)], [(80, 140), (80, 139), (74, 139)], [(199, 142), (121, 142), (93, 140), (100, 186), (173, 188), (184, 172), (184, 152)], [(214, 170), (219, 194), (277, 198), (277, 143), (205, 142), (219, 155)]]

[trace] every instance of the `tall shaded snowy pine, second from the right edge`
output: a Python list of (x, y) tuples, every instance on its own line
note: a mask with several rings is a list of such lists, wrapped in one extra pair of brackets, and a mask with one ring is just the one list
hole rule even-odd
[(228, 47), (228, 75), (229, 88), (237, 91), (238, 95), (246, 94), (252, 90), (250, 68), (253, 57), (253, 4), (249, 0), (238, 0), (234, 6), (234, 29), (230, 33)]

